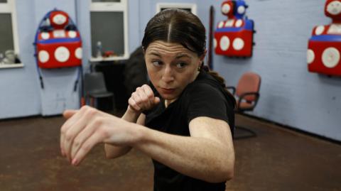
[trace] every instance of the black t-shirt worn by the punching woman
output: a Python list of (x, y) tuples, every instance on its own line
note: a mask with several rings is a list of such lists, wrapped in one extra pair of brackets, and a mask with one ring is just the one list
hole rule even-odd
[[(154, 94), (160, 97), (156, 89)], [(161, 98), (161, 97), (160, 97)], [(194, 82), (188, 84), (175, 102), (166, 108), (161, 98), (160, 104), (145, 111), (146, 126), (165, 133), (190, 136), (189, 123), (198, 116), (208, 116), (227, 121), (231, 131), (234, 130), (234, 98), (227, 94), (217, 80), (207, 72), (200, 72)], [(154, 190), (225, 190), (225, 182), (210, 183), (168, 168), (153, 160)]]

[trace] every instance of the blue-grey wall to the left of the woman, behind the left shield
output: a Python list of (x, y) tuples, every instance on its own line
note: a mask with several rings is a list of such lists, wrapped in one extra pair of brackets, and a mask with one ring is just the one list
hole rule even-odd
[[(129, 1), (129, 50), (139, 46), (139, 0)], [(136, 6), (137, 5), (137, 6)], [(40, 20), (52, 9), (69, 13), (77, 23), (83, 43), (83, 68), (90, 69), (90, 0), (16, 0), (18, 41), (22, 68), (0, 69), (0, 119), (41, 114), (61, 114), (80, 107), (80, 86), (74, 92), (77, 68), (40, 70), (44, 89), (40, 88), (33, 41)], [(137, 26), (137, 27), (136, 27)]]

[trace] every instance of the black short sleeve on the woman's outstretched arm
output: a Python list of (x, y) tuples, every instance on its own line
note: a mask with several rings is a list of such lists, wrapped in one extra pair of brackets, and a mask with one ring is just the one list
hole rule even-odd
[(188, 123), (198, 116), (221, 119), (229, 123), (227, 100), (219, 89), (197, 83), (188, 89)]

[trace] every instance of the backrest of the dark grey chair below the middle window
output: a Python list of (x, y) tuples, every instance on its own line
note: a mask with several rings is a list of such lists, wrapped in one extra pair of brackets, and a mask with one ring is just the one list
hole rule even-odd
[(85, 95), (89, 93), (107, 92), (102, 72), (85, 73), (84, 92)]

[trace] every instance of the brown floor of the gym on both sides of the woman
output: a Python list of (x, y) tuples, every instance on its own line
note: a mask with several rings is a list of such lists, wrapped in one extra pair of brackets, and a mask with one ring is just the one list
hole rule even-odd
[[(59, 153), (63, 121), (0, 121), (0, 190), (152, 190), (151, 159), (139, 151), (107, 160), (99, 145), (72, 167)], [(236, 121), (257, 136), (234, 141), (235, 177), (227, 190), (341, 190), (340, 145), (247, 116)]]

